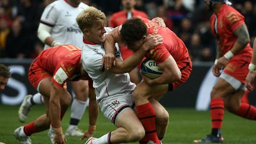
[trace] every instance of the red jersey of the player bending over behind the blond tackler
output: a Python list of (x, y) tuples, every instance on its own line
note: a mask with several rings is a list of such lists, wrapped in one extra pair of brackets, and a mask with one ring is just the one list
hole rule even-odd
[(81, 49), (70, 44), (49, 47), (36, 59), (41, 69), (52, 75), (52, 82), (57, 87), (63, 87), (66, 81), (78, 81)]

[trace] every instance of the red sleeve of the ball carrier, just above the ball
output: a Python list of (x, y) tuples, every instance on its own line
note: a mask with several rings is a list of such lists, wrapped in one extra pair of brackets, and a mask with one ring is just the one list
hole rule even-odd
[(154, 49), (147, 53), (147, 56), (155, 60), (156, 63), (160, 64), (164, 62), (171, 54), (169, 53), (167, 47), (164, 44), (160, 44)]

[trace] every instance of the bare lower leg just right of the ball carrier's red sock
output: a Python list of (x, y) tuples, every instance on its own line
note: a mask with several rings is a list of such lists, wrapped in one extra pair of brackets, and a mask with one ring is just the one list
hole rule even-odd
[(149, 100), (156, 112), (156, 133), (162, 142), (169, 123), (168, 111), (154, 98)]

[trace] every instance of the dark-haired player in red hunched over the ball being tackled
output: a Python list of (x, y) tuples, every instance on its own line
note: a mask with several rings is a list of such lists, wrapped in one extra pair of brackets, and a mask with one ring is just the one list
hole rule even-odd
[[(110, 55), (113, 55), (114, 42), (121, 42), (125, 43), (128, 49), (136, 52), (144, 43), (148, 34), (159, 34), (164, 39), (162, 44), (146, 53), (146, 57), (155, 60), (164, 73), (156, 79), (143, 76), (144, 81), (136, 86), (133, 99), (136, 104), (137, 116), (146, 131), (146, 135), (140, 140), (140, 143), (149, 140), (159, 143), (159, 140), (164, 137), (165, 130), (157, 132), (159, 137), (156, 135), (155, 110), (152, 104), (149, 103), (149, 99), (155, 98), (158, 100), (168, 91), (174, 90), (178, 85), (187, 81), (192, 71), (192, 63), (188, 56), (187, 47), (169, 28), (161, 27), (155, 21), (146, 18), (126, 20), (108, 34), (104, 47), (107, 52), (110, 52)], [(112, 64), (110, 57), (106, 56), (104, 59), (107, 69)]]

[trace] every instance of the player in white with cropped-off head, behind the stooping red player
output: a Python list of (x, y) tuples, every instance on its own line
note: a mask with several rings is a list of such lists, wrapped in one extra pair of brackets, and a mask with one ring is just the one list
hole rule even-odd
[[(82, 46), (82, 32), (76, 24), (75, 18), (88, 5), (80, 0), (59, 0), (48, 5), (41, 15), (37, 36), (47, 47), (58, 46), (60, 44), (73, 44)], [(87, 107), (88, 81), (71, 82), (75, 98), (71, 105), (71, 120), (66, 130), (66, 136), (83, 136), (84, 133), (78, 129), (85, 108)], [(40, 94), (33, 97), (27, 95), (19, 110), (20, 121), (27, 118), (30, 107), (35, 103), (42, 103)], [(95, 113), (93, 113), (95, 114)], [(52, 129), (52, 128), (50, 128)]]

